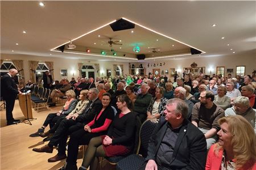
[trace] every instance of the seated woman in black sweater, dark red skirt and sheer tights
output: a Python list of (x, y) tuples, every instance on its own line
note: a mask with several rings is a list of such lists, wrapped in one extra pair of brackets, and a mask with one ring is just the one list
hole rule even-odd
[(131, 112), (132, 103), (125, 94), (118, 96), (117, 107), (121, 110), (113, 120), (107, 135), (92, 138), (85, 151), (80, 170), (96, 170), (98, 157), (122, 156), (133, 151), (136, 116)]

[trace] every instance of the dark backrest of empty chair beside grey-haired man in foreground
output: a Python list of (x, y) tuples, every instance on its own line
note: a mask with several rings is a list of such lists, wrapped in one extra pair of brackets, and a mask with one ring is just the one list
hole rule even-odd
[(147, 156), (148, 142), (157, 124), (158, 121), (156, 119), (148, 119), (142, 124), (141, 131), (139, 132), (140, 145), (137, 154), (141, 154), (143, 157)]

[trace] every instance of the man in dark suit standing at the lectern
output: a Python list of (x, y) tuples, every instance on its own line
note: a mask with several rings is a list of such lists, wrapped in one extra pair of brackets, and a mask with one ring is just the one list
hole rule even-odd
[(18, 94), (22, 94), (13, 80), (13, 77), (16, 76), (16, 74), (18, 74), (16, 69), (10, 69), (7, 74), (1, 77), (1, 96), (6, 102), (7, 125), (13, 125), (20, 121), (19, 119), (13, 118), (15, 99)]

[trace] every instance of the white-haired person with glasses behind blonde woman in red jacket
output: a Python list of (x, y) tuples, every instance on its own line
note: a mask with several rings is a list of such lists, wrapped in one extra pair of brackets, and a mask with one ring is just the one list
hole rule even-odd
[(238, 96), (234, 99), (234, 106), (225, 110), (225, 116), (229, 115), (244, 117), (253, 126), (256, 135), (256, 110), (250, 106), (248, 97)]

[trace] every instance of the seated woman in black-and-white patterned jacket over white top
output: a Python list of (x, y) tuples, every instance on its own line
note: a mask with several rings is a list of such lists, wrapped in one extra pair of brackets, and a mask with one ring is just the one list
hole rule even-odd
[(164, 88), (159, 87), (155, 89), (155, 97), (150, 101), (147, 107), (147, 119), (159, 119), (166, 109), (167, 98), (163, 97)]

